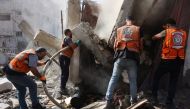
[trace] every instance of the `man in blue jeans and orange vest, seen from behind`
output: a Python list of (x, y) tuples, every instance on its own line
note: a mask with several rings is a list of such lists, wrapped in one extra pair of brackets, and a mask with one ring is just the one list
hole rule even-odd
[(137, 102), (137, 68), (141, 48), (140, 27), (134, 25), (134, 19), (127, 17), (126, 24), (117, 29), (114, 42), (115, 62), (113, 73), (106, 92), (107, 104), (104, 109), (113, 109), (113, 92), (120, 75), (127, 70), (130, 82), (130, 102)]

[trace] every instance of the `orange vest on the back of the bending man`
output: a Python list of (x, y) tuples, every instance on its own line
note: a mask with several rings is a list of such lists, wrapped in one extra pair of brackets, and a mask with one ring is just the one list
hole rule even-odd
[(25, 50), (17, 54), (9, 63), (9, 67), (17, 72), (27, 73), (30, 71), (28, 66), (28, 57), (29, 54), (35, 54), (33, 49)]

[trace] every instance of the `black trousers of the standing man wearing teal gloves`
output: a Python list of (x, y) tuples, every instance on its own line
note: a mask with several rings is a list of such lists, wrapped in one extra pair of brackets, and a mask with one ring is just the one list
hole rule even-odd
[(66, 83), (69, 78), (69, 66), (70, 66), (70, 58), (60, 55), (59, 63), (61, 67), (61, 86), (60, 88), (63, 90), (66, 87)]

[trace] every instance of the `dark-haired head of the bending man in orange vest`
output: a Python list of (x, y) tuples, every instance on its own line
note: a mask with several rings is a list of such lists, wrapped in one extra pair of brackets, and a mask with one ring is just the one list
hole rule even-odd
[(47, 50), (43, 47), (38, 47), (35, 51), (39, 60), (42, 60), (47, 55)]

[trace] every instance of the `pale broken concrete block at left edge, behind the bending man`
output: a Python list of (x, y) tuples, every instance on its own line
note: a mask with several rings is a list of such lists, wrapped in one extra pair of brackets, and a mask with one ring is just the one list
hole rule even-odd
[(7, 78), (0, 78), (0, 93), (8, 92), (12, 89), (13, 85)]

